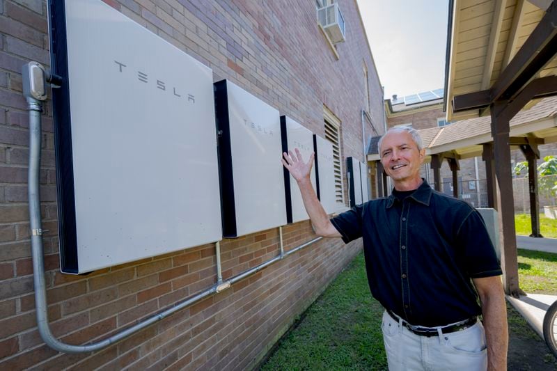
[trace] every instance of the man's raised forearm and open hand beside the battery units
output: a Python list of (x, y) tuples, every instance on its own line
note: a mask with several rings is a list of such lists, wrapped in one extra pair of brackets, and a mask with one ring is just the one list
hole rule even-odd
[(304, 207), (306, 207), (306, 212), (313, 223), (313, 228), (315, 228), (315, 233), (322, 237), (341, 237), (340, 233), (333, 226), (333, 223), (329, 220), (329, 216), (323, 209), (323, 206), (315, 194), (315, 190), (311, 185), (311, 167), (313, 166), (312, 153), (309, 160), (304, 163), (301, 158), (300, 151), (298, 148), (295, 149), (296, 154), (289, 151), (290, 154), (283, 153), (283, 165), (290, 171), (290, 174), (296, 180), (301, 193), (301, 199), (304, 201)]

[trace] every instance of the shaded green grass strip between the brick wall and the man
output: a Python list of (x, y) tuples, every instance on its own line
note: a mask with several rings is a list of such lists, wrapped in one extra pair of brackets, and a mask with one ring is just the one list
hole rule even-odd
[(360, 253), (280, 340), (261, 370), (386, 370), (382, 314)]

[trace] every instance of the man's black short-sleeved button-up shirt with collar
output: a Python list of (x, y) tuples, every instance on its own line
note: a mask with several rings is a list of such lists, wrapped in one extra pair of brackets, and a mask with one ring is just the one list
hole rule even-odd
[(373, 297), (411, 324), (480, 315), (471, 278), (502, 274), (480, 214), (425, 180), (402, 201), (371, 200), (331, 222), (345, 243), (363, 237)]

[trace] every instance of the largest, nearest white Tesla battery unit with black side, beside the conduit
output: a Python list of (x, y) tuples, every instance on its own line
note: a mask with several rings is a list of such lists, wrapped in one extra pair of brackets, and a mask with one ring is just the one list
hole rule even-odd
[(212, 70), (99, 0), (49, 17), (61, 270), (219, 241)]

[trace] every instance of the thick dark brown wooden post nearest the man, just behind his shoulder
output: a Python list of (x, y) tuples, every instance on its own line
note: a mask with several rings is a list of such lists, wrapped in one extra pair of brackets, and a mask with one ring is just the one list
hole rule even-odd
[(497, 198), (499, 205), (499, 226), (501, 243), (501, 265), (503, 268), (503, 286), (505, 292), (518, 297), (524, 294), (519, 288), (517, 238), (515, 232), (515, 200), (512, 194), (512, 173), (510, 169), (509, 122), (503, 115), (507, 101), (494, 102), (490, 107), (492, 117), (492, 134), (494, 139), (494, 157)]

